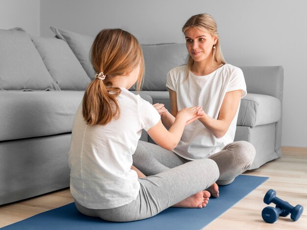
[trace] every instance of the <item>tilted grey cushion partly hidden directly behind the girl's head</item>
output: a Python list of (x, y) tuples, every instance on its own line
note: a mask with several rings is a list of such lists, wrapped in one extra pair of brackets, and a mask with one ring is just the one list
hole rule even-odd
[(90, 50), (94, 38), (64, 29), (58, 29), (53, 26), (50, 28), (58, 38), (67, 42), (89, 78), (93, 80), (96, 73), (90, 61)]

